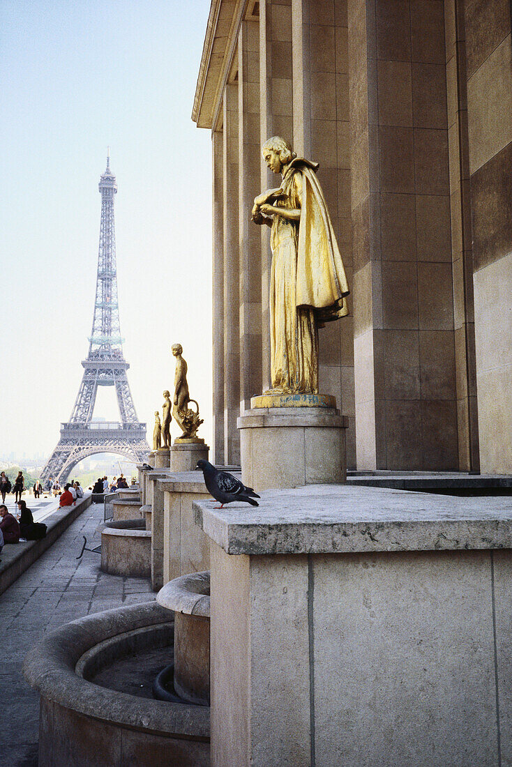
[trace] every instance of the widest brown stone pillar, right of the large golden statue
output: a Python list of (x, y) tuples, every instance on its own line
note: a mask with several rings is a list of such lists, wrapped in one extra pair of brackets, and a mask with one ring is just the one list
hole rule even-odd
[(349, 0), (358, 469), (457, 469), (442, 2)]

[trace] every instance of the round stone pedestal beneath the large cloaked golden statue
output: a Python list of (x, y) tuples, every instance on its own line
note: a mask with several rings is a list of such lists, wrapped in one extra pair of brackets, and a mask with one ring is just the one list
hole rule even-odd
[(345, 482), (347, 425), (328, 395), (253, 397), (238, 419), (243, 483), (259, 491)]

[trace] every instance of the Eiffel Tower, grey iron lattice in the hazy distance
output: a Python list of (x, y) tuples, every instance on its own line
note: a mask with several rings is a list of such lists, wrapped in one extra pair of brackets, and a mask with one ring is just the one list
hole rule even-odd
[[(61, 423), (61, 438), (41, 472), (41, 480), (63, 482), (79, 461), (96, 453), (116, 453), (135, 463), (147, 459), (146, 424), (135, 412), (123, 356), (123, 338), (117, 304), (114, 194), (117, 183), (107, 155), (107, 169), (99, 183), (101, 193), (100, 246), (97, 255), (96, 300), (89, 338), (89, 354), (82, 361), (84, 376), (68, 423)], [(97, 387), (114, 386), (121, 415), (119, 423), (92, 420)]]

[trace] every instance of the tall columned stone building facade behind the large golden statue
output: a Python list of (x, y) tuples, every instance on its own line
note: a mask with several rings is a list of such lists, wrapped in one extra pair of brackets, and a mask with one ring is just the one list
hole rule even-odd
[[(510, 2), (214, 0), (193, 107), (213, 140), (213, 460), (269, 384), (259, 155), (320, 163), (352, 295), (320, 390), (353, 469), (512, 470)], [(265, 231), (260, 231), (264, 229)]]

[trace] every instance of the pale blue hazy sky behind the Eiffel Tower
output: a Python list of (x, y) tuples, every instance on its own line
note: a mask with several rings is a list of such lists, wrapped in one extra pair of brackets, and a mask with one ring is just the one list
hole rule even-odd
[[(137, 415), (150, 435), (180, 341), (210, 443), (210, 131), (190, 119), (209, 9), (209, 0), (0, 2), (0, 454), (49, 454), (71, 415), (91, 334), (107, 145)], [(118, 420), (112, 387), (94, 415)]]

